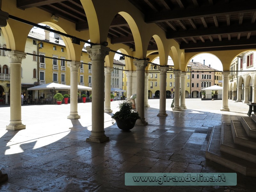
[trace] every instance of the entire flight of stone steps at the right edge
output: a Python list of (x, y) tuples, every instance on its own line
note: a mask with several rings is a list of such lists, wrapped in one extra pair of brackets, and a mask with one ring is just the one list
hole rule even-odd
[(256, 177), (256, 115), (215, 126), (205, 157), (247, 176)]

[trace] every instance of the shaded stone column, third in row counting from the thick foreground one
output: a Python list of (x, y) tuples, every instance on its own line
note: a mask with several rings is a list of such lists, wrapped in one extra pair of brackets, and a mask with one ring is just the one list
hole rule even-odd
[(166, 114), (166, 73), (169, 67), (158, 67), (160, 71), (160, 100), (159, 100), (159, 113), (157, 116), (167, 116)]

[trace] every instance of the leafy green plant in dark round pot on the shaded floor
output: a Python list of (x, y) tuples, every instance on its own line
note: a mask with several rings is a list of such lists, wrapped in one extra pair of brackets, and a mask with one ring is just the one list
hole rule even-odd
[[(139, 113), (133, 111), (131, 102), (124, 101), (118, 105), (119, 111), (111, 116), (111, 118), (116, 120), (119, 129), (130, 131), (134, 127), (137, 119), (140, 119)], [(115, 124), (114, 121), (112, 121), (112, 124)]]

